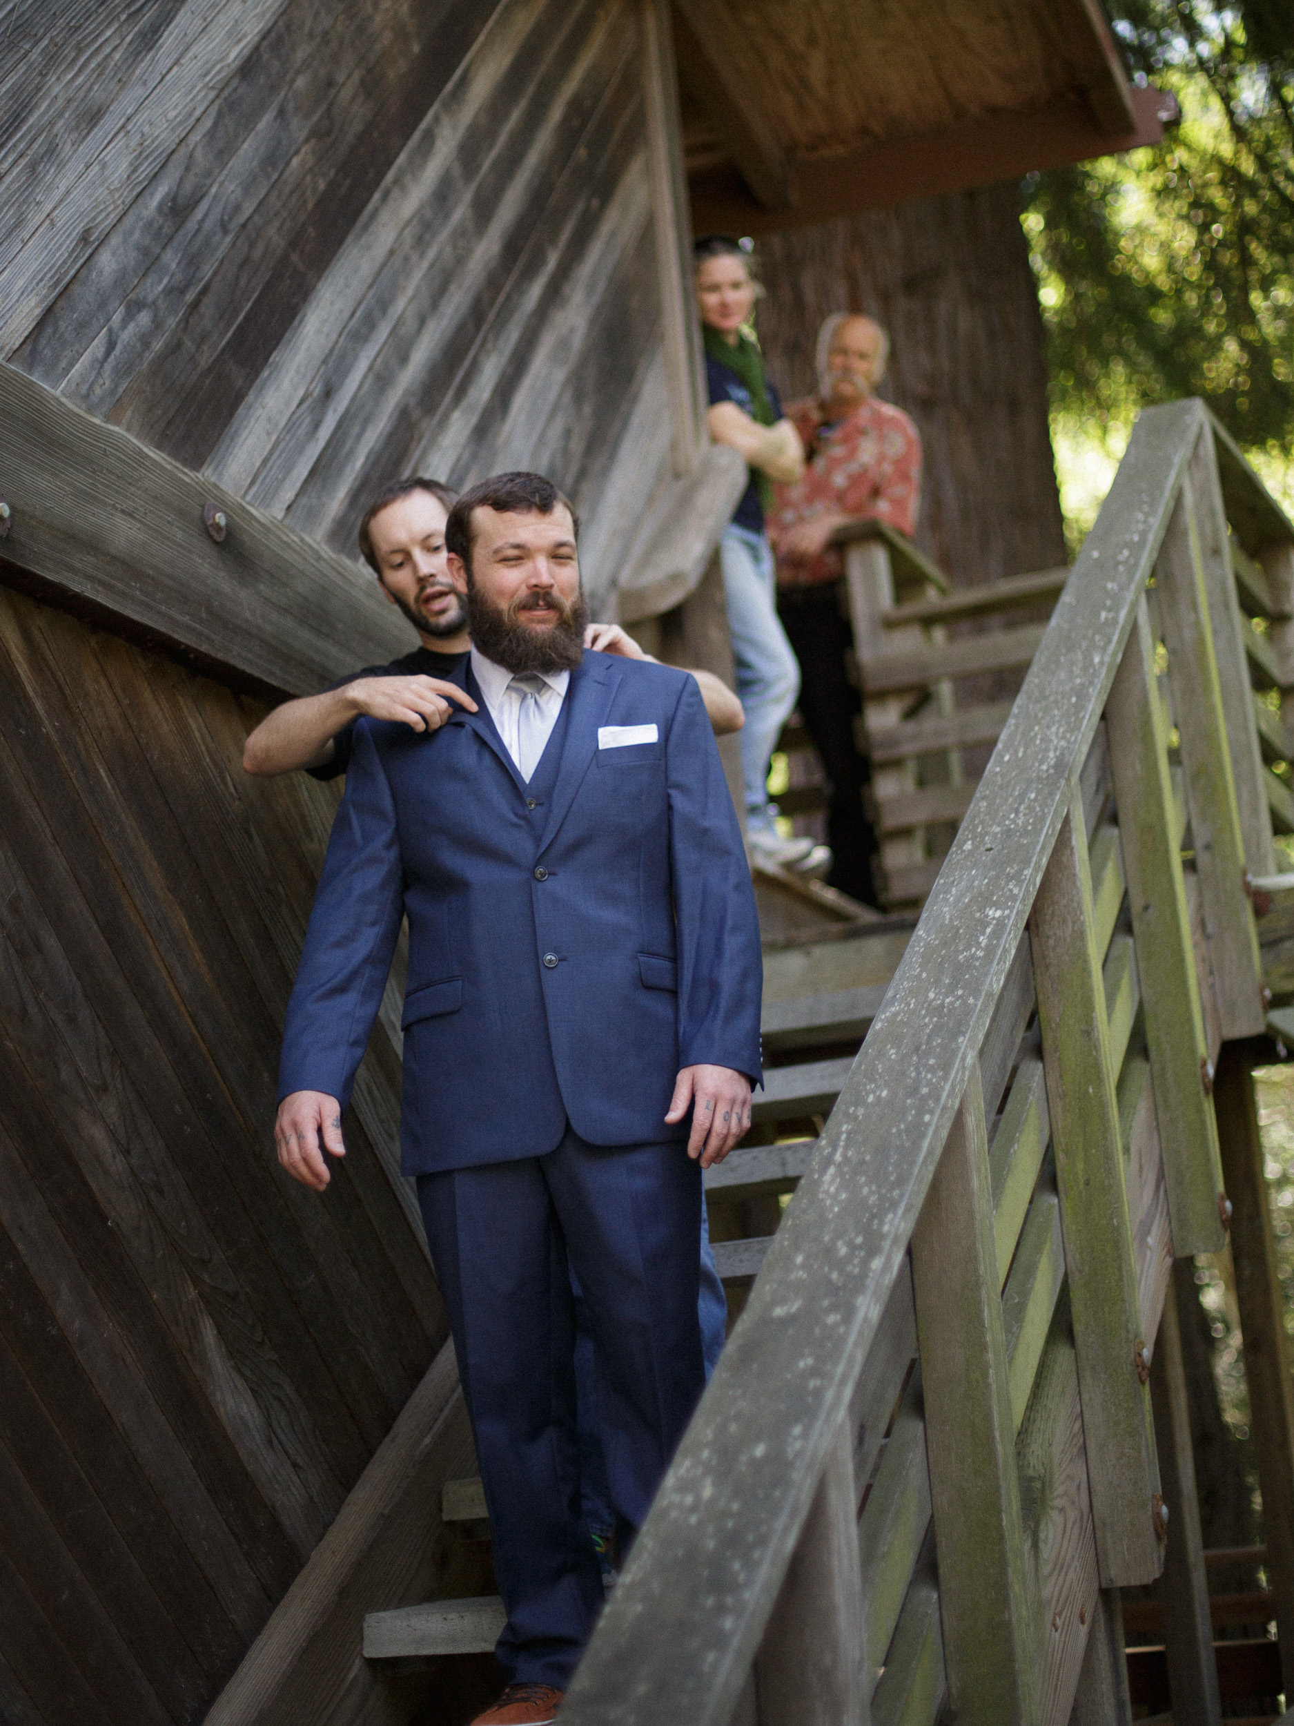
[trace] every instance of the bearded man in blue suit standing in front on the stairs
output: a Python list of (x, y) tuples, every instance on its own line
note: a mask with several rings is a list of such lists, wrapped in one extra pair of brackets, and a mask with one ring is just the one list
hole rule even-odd
[[(455, 504), (476, 711), (361, 720), (283, 1041), (280, 1162), (324, 1151), (404, 917), (404, 1170), (490, 1510), (509, 1688), (552, 1719), (602, 1600), (580, 1514), (569, 1269), (607, 1476), (638, 1528), (704, 1384), (700, 1170), (751, 1122), (759, 929), (695, 680), (583, 651), (569, 502), (502, 475)], [(431, 758), (435, 751), (435, 759)]]

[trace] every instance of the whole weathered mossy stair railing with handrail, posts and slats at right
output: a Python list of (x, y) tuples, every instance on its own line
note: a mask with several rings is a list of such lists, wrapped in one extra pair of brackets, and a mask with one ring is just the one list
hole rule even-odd
[(1225, 454), (1223, 501), (1203, 406), (1142, 414), (566, 1726), (1118, 1717), (1149, 1360), (1223, 1239), (1222, 1041), (1265, 1024), (1227, 516), (1294, 532)]

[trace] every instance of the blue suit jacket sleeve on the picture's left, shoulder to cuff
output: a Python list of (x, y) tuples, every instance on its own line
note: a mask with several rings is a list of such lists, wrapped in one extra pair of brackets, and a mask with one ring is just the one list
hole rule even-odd
[(402, 917), (395, 806), (369, 725), (361, 723), (288, 1001), (280, 1098), (321, 1091), (342, 1108), (350, 1101)]

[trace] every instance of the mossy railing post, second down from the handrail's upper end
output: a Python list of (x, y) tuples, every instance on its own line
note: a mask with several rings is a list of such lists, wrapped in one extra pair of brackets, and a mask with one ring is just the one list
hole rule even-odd
[(1137, 623), (1106, 701), (1106, 735), (1115, 801), (1125, 813), (1120, 842), (1146, 1005), (1146, 1044), (1173, 1251), (1215, 1253), (1222, 1246), (1222, 1162), (1208, 1096), (1213, 1077), (1146, 599), (1137, 604)]

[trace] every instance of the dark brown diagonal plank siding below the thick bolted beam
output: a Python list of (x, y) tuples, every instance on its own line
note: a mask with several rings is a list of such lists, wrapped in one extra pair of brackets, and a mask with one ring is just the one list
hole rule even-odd
[(200, 1719), (447, 1336), (385, 1029), (326, 1200), (273, 1160), (333, 797), (257, 718), (0, 595), (5, 1721)]

